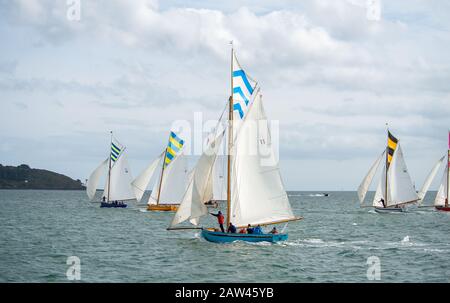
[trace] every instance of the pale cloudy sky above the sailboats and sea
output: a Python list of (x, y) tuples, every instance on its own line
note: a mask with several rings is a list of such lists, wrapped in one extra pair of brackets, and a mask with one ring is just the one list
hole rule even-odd
[(448, 13), (443, 0), (0, 0), (0, 163), (85, 180), (112, 130), (137, 176), (174, 121), (222, 113), (233, 40), (279, 122), (288, 190), (356, 190), (386, 123), (420, 187), (447, 150)]

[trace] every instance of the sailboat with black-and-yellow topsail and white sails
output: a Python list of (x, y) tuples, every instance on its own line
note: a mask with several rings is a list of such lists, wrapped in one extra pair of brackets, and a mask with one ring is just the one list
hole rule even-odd
[(379, 166), (384, 160), (372, 206), (378, 213), (403, 212), (405, 206), (419, 201), (403, 156), (400, 142), (389, 130), (386, 149), (377, 158), (358, 188), (361, 205)]

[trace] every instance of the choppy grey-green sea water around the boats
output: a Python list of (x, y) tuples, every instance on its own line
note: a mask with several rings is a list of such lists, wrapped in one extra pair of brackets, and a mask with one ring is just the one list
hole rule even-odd
[(304, 219), (289, 223), (286, 242), (215, 244), (196, 230), (167, 231), (173, 213), (136, 202), (103, 209), (84, 191), (0, 190), (0, 282), (69, 281), (69, 257), (82, 282), (450, 281), (449, 213), (378, 214), (355, 192), (320, 194), (289, 192)]

